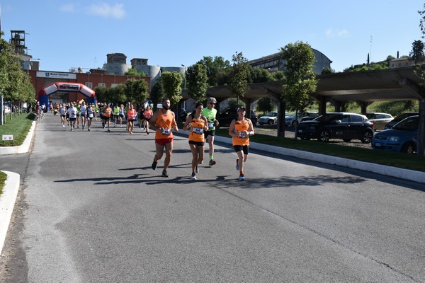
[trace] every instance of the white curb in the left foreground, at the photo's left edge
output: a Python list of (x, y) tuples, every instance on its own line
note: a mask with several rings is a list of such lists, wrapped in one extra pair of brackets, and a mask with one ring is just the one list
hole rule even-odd
[(18, 173), (2, 171), (7, 174), (3, 194), (0, 195), (0, 255), (3, 250), (4, 241), (8, 226), (11, 221), (13, 207), (15, 207), (16, 197), (18, 196), (21, 176)]

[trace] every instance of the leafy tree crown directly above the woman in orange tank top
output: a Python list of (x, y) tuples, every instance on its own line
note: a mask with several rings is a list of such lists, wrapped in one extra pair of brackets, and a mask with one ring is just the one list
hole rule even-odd
[(194, 64), (186, 70), (186, 82), (188, 83), (188, 95), (196, 102), (207, 98), (208, 89), (207, 68), (203, 64)]

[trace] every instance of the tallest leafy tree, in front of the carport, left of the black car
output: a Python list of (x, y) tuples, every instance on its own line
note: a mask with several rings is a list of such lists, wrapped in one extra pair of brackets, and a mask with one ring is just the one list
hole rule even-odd
[[(295, 42), (280, 48), (285, 60), (285, 77), (282, 100), (289, 110), (295, 110), (297, 119), (298, 110), (312, 104), (311, 94), (316, 91), (317, 79), (314, 74), (314, 53), (312, 47), (304, 42)], [(296, 129), (295, 129), (295, 139)]]

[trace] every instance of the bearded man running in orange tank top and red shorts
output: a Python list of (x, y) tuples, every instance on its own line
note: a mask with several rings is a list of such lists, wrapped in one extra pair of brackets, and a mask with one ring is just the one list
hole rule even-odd
[(173, 129), (179, 132), (179, 128), (176, 123), (176, 115), (174, 112), (169, 110), (170, 100), (164, 98), (162, 100), (162, 109), (154, 112), (152, 118), (149, 120), (149, 125), (155, 131), (155, 154), (154, 162), (152, 162), (152, 169), (157, 169), (159, 159), (162, 158), (165, 149), (164, 168), (162, 170), (162, 177), (168, 177), (166, 172), (170, 162), (171, 154), (173, 153)]

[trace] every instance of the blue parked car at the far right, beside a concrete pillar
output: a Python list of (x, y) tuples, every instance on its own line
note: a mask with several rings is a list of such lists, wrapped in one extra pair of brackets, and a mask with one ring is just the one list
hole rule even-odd
[(419, 144), (419, 115), (410, 116), (398, 122), (391, 129), (375, 134), (373, 149), (413, 154)]

